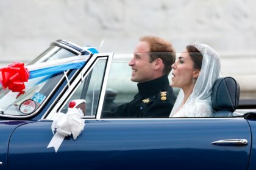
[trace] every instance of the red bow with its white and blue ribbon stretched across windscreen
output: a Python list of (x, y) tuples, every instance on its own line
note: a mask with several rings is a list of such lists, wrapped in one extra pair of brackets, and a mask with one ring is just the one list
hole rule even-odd
[(80, 69), (89, 56), (74, 56), (46, 63), (37, 63), (25, 67), (24, 63), (14, 62), (0, 69), (0, 83), (2, 87), (9, 88), (12, 92), (24, 93), (24, 82), (29, 79), (60, 73), (69, 69)]

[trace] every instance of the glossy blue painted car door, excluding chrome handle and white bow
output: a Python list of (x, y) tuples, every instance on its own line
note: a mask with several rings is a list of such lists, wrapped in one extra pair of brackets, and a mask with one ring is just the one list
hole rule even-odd
[[(46, 148), (51, 121), (24, 124), (9, 144), (9, 169), (247, 169), (251, 130), (244, 118), (86, 120), (77, 140)], [(247, 146), (215, 146), (244, 138)], [(28, 166), (29, 165), (29, 166)]]

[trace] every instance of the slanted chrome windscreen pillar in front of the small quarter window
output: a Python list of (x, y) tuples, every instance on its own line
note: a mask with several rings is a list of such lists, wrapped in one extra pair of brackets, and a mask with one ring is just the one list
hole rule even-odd
[[(55, 98), (55, 100), (52, 102), (52, 103), (55, 103), (54, 107), (51, 109), (49, 114), (48, 114), (48, 112), (45, 112), (45, 114), (43, 115), (43, 117), (41, 119), (52, 120), (52, 117), (54, 116), (54, 114), (59, 112), (59, 110), (61, 110), (64, 107), (65, 101), (69, 100), (69, 98), (72, 97), (72, 95), (74, 94), (76, 89), (80, 86), (80, 84), (82, 84), (82, 81), (85, 79), (85, 77), (87, 77), (88, 73), (90, 73), (90, 71), (93, 69), (94, 65), (97, 63), (97, 61), (106, 60), (106, 59), (108, 59), (108, 56), (110, 56), (111, 54), (112, 53), (97, 53), (97, 54), (94, 54), (93, 56), (91, 56), (91, 58), (88, 60), (88, 63), (85, 64), (84, 69), (80, 70), (79, 75), (76, 77), (76, 79), (73, 81), (73, 83), (70, 84), (69, 90), (66, 90), (66, 92), (63, 92), (68, 87), (68, 84), (66, 84), (66, 86), (60, 92), (60, 94), (62, 94), (62, 96), (61, 97), (59, 96), (60, 98), (59, 97)], [(108, 64), (108, 62), (107, 62), (107, 64)], [(105, 72), (106, 72), (106, 70), (105, 70)], [(104, 75), (104, 77), (105, 77), (105, 75)], [(101, 95), (100, 95), (100, 98), (101, 98)], [(97, 113), (98, 113), (98, 111), (96, 112), (96, 114)]]

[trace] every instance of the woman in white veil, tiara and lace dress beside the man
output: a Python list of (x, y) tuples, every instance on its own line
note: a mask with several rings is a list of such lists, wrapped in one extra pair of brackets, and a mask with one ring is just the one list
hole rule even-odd
[(186, 47), (172, 64), (172, 87), (180, 87), (169, 117), (211, 117), (212, 87), (221, 77), (218, 53), (196, 42)]

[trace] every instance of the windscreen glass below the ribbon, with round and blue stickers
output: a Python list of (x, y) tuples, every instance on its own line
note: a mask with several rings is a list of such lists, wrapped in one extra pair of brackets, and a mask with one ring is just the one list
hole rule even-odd
[(62, 78), (59, 75), (34, 78), (24, 83), (24, 94), (12, 92), (8, 89), (0, 92), (0, 110), (4, 115), (28, 115), (32, 114), (43, 103)]

